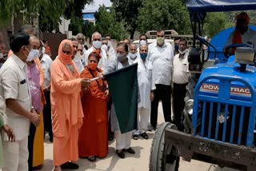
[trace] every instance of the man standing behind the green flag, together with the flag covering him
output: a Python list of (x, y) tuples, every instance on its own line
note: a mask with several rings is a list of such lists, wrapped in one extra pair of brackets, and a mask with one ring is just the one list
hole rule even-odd
[(135, 153), (134, 149), (130, 148), (130, 143), (132, 131), (137, 129), (138, 64), (132, 65), (133, 62), (127, 58), (127, 54), (126, 43), (118, 43), (117, 60), (111, 61), (103, 72), (113, 100), (110, 113), (111, 129), (116, 138), (116, 153), (121, 158), (126, 157), (124, 152)]

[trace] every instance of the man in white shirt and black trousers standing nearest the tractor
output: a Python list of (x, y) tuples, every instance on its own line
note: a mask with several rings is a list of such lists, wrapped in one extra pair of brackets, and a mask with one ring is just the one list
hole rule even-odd
[(189, 82), (190, 74), (187, 72), (189, 62), (187, 61), (187, 42), (180, 39), (178, 43), (178, 52), (174, 56), (173, 65), (173, 104), (174, 104), (174, 123), (178, 130), (183, 131), (182, 111), (185, 106), (184, 98), (186, 97), (186, 85)]

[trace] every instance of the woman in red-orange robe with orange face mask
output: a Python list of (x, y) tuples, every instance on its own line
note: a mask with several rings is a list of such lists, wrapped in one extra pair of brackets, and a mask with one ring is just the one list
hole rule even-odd
[[(102, 73), (98, 62), (102, 55), (99, 50), (89, 54), (88, 66), (80, 74), (81, 78), (92, 79)], [(107, 132), (107, 94), (106, 82), (102, 79), (91, 82), (86, 90), (82, 90), (82, 109), (85, 117), (79, 132), (79, 157), (88, 157), (96, 161), (96, 157), (106, 157), (108, 152)]]

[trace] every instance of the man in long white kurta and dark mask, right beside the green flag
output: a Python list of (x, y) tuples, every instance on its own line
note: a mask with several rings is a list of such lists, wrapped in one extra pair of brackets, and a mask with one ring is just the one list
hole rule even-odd
[(138, 140), (138, 135), (141, 135), (144, 139), (149, 138), (146, 134), (146, 129), (150, 118), (151, 101), (154, 99), (155, 89), (152, 79), (152, 64), (149, 60), (146, 60), (148, 47), (142, 45), (139, 49), (140, 55), (137, 62), (138, 88), (141, 101), (138, 102), (138, 129), (133, 134), (134, 140)]

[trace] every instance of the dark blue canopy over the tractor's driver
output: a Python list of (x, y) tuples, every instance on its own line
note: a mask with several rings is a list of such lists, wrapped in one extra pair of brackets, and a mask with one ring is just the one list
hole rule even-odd
[(190, 13), (256, 10), (256, 0), (188, 0)]

